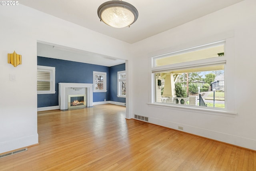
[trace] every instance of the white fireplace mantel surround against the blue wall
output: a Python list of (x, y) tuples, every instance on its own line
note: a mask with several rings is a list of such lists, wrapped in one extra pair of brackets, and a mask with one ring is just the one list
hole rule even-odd
[(67, 109), (68, 100), (66, 99), (66, 88), (87, 88), (87, 106), (92, 106), (93, 84), (84, 83), (59, 83), (59, 105), (60, 110)]

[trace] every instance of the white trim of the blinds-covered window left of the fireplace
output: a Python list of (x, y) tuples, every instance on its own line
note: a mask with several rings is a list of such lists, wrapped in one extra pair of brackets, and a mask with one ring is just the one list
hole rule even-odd
[(50, 91), (37, 91), (38, 94), (54, 94), (55, 91), (55, 67), (51, 66), (37, 66), (37, 70), (50, 72)]

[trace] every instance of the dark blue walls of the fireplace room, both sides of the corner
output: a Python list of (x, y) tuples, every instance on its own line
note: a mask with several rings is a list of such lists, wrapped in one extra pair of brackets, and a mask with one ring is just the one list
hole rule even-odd
[[(106, 72), (107, 73), (107, 92), (95, 92), (93, 93), (93, 102), (111, 100), (110, 97), (114, 96), (110, 87), (116, 86), (117, 89), (117, 80), (114, 81), (111, 76), (114, 76), (116, 68), (125, 70), (125, 64), (118, 66), (106, 67), (93, 64), (85, 64), (81, 62), (72, 62), (67, 60), (58, 60), (53, 58), (37, 57), (37, 65), (40, 66), (52, 66), (55, 67), (55, 94), (38, 94), (37, 95), (37, 107), (48, 107), (59, 105), (58, 102), (58, 92), (59, 87), (58, 83), (93, 83), (93, 71), (97, 72)], [(121, 67), (120, 67), (121, 66)], [(117, 79), (117, 71), (116, 71)], [(111, 86), (110, 86), (111, 85)], [(116, 99), (111, 101), (123, 102), (123, 99)]]

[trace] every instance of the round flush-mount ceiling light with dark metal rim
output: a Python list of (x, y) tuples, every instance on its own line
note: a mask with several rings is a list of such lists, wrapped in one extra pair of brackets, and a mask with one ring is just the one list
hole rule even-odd
[(133, 24), (138, 18), (137, 9), (128, 2), (111, 0), (104, 2), (98, 8), (100, 21), (108, 26), (123, 28)]

